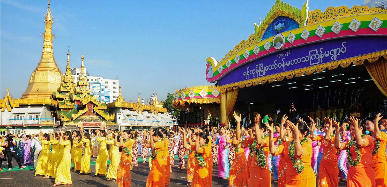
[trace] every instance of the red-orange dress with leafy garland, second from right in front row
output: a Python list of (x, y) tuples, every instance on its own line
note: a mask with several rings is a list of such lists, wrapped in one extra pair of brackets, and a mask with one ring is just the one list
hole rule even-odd
[(340, 149), (347, 150), (348, 156), (348, 187), (375, 187), (375, 165), (372, 162), (373, 139), (368, 135), (361, 135), (363, 142), (360, 146), (356, 141), (340, 143)]

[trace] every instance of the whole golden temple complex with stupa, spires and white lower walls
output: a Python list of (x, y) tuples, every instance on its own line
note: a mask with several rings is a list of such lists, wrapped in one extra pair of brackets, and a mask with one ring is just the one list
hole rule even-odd
[[(0, 134), (23, 131), (64, 129), (115, 129), (125, 126), (171, 126), (175, 119), (162, 102), (151, 97), (150, 104), (125, 102), (121, 94), (115, 102), (105, 104), (91, 94), (82, 55), (81, 73), (77, 83), (71, 73), (70, 53), (63, 75), (53, 53), (53, 16), (50, 2), (45, 15), (43, 51), (38, 66), (31, 74), (26, 91), (20, 99), (7, 95), (0, 99)], [(152, 95), (153, 96), (153, 95)]]

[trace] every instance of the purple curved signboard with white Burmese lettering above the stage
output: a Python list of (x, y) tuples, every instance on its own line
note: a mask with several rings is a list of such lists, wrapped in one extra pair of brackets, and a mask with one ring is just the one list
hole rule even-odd
[(348, 37), (278, 51), (242, 65), (219, 86), (387, 50), (387, 37)]

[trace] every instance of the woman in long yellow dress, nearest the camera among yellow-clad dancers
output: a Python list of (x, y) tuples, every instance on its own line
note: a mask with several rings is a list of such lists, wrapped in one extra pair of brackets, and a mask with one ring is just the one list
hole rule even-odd
[(62, 157), (58, 168), (57, 174), (55, 176), (55, 184), (53, 186), (57, 186), (60, 184), (72, 184), (71, 175), (70, 175), (70, 167), (71, 167), (71, 154), (70, 150), (72, 148), (72, 136), (70, 131), (66, 131), (63, 133), (62, 129), (59, 130), (59, 146), (62, 146), (63, 155), (59, 155), (58, 157)]

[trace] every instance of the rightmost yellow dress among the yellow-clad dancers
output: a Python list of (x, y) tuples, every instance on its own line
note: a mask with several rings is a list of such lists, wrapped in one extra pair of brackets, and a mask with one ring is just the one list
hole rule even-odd
[(114, 142), (114, 139), (106, 140), (106, 144), (111, 145), (110, 146), (110, 153), (111, 153), (110, 164), (108, 169), (108, 175), (106, 175), (106, 177), (108, 178), (108, 181), (111, 181), (111, 180), (116, 181), (118, 165), (120, 165), (121, 153), (120, 153), (120, 150), (118, 149), (117, 144)]

